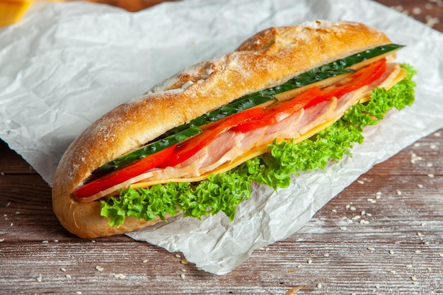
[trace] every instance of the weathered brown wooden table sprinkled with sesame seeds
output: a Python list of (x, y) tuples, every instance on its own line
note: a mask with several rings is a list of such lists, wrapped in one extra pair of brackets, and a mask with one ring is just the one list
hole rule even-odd
[[(441, 0), (380, 2), (443, 31)], [(50, 187), (0, 141), (0, 294), (443, 294), (442, 171), (440, 129), (217, 276), (127, 236), (72, 236)]]

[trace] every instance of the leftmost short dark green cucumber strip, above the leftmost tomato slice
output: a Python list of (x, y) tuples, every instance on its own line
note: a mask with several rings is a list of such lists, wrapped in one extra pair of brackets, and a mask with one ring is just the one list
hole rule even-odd
[(141, 158), (144, 158), (151, 154), (155, 154), (156, 152), (166, 149), (169, 146), (178, 144), (179, 142), (184, 141), (185, 139), (194, 137), (195, 135), (200, 134), (201, 132), (203, 132), (203, 130), (200, 129), (199, 127), (194, 127), (194, 126), (189, 127), (185, 130), (177, 132), (176, 134), (172, 134), (169, 137), (160, 139), (159, 141), (155, 141), (152, 144), (147, 144), (146, 146), (143, 146), (141, 149), (132, 151), (132, 153), (130, 154), (126, 154), (125, 156), (121, 156), (120, 158), (105, 163), (105, 165), (100, 166), (99, 168), (94, 170), (93, 173), (94, 174), (109, 173), (110, 171), (126, 166), (127, 164), (130, 164)]

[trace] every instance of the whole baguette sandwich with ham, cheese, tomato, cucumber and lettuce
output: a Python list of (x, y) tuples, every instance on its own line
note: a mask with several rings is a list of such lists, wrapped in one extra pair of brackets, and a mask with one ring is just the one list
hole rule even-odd
[(414, 70), (381, 31), (313, 21), (269, 28), (100, 117), (69, 146), (54, 213), (84, 238), (183, 214), (234, 219), (251, 185), (287, 187), (414, 100)]

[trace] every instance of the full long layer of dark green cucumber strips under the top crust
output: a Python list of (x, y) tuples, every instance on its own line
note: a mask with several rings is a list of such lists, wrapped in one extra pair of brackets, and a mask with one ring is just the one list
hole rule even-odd
[(276, 94), (307, 86), (311, 83), (316, 83), (318, 81), (322, 81), (333, 76), (352, 72), (354, 70), (347, 68), (358, 64), (359, 62), (364, 62), (367, 59), (371, 59), (372, 57), (377, 57), (381, 54), (398, 50), (401, 47), (403, 47), (403, 45), (396, 44), (374, 47), (372, 49), (365, 50), (357, 54), (352, 54), (349, 57), (344, 57), (343, 59), (338, 59), (335, 62), (330, 62), (329, 64), (324, 64), (323, 66), (319, 66), (318, 68), (306, 71), (302, 74), (299, 74), (298, 76), (295, 76), (294, 78), (290, 79), (280, 86), (267, 88), (263, 91), (258, 91), (246, 96), (242, 96), (241, 98), (234, 100), (228, 105), (224, 105), (217, 110), (212, 110), (205, 113), (204, 115), (201, 115), (200, 117), (195, 118), (194, 120), (191, 120), (188, 124), (180, 125), (169, 130), (161, 137), (157, 137), (156, 139), (154, 139), (154, 141), (151, 141), (143, 146), (141, 149), (137, 149), (136, 151), (133, 151), (130, 154), (126, 154), (125, 156), (121, 156), (114, 161), (105, 163), (103, 166), (100, 166), (99, 168), (94, 170), (93, 174), (110, 173), (113, 170), (122, 168), (129, 163), (139, 160), (140, 158), (144, 158), (145, 156), (154, 154), (157, 151), (166, 149), (168, 146), (178, 144), (180, 141), (185, 141), (186, 139), (195, 136), (195, 134), (197, 134), (195, 133), (197, 129), (193, 129), (194, 127), (201, 127), (203, 125), (207, 125), (210, 122), (221, 120), (229, 115), (234, 115), (237, 112), (247, 110), (248, 108), (253, 108), (257, 105), (265, 103), (268, 100), (275, 99), (274, 96)]

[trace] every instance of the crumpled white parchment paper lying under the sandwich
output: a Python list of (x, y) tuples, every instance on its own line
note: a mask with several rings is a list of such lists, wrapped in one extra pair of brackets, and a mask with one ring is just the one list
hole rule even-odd
[(259, 30), (315, 19), (367, 23), (407, 45), (398, 60), (418, 69), (415, 105), (367, 127), (352, 157), (294, 176), (286, 190), (254, 186), (232, 223), (224, 214), (174, 218), (128, 234), (226, 274), (253, 250), (292, 235), (376, 163), (443, 127), (441, 33), (364, 0), (188, 0), (138, 13), (39, 2), (20, 23), (0, 28), (0, 137), (51, 184), (67, 146), (103, 113)]

